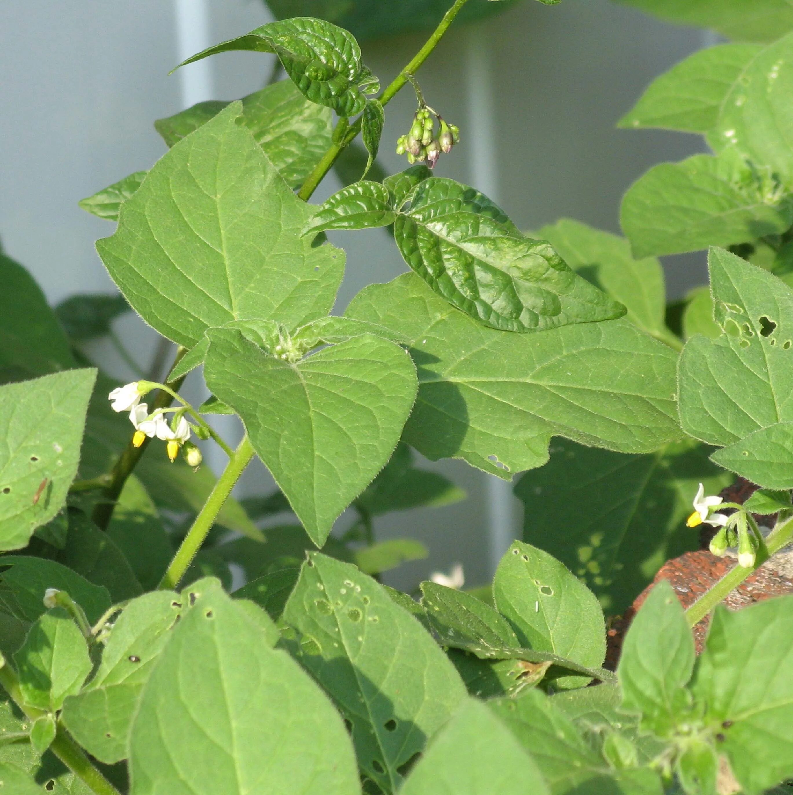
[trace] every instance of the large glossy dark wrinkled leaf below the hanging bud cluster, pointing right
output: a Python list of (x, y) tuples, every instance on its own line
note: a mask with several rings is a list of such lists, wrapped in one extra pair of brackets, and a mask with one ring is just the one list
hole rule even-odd
[(421, 182), (394, 238), (431, 289), (492, 328), (533, 332), (625, 314), (546, 242), (521, 235), (487, 196), (455, 180)]

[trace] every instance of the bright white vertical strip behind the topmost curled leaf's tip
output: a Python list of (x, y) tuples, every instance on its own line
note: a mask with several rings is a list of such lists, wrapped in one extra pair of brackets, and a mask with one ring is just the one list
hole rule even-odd
[[(208, 0), (174, 0), (176, 56), (181, 63), (209, 47), (211, 41)], [(182, 105), (190, 107), (212, 97), (212, 59), (204, 58), (176, 72), (182, 88)]]

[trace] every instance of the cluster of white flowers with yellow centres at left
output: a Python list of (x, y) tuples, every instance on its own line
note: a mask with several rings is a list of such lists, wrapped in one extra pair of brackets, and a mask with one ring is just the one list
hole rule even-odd
[(149, 381), (133, 381), (131, 384), (119, 386), (114, 389), (108, 399), (114, 411), (128, 411), (130, 422), (135, 429), (132, 437), (132, 444), (138, 448), (143, 444), (146, 437), (163, 440), (168, 458), (173, 462), (179, 451), (184, 452), (184, 458), (191, 467), (198, 467), (202, 461), (201, 451), (190, 441), (191, 425), (184, 417), (184, 409), (177, 409), (172, 421), (168, 423), (165, 417), (167, 409), (157, 409), (149, 414), (149, 405), (141, 403), (141, 397), (153, 389), (157, 389), (158, 384)]

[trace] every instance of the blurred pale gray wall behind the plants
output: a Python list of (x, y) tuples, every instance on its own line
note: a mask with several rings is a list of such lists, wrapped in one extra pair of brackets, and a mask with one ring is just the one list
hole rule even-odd
[[(95, 239), (114, 227), (81, 211), (77, 201), (161, 157), (165, 147), (153, 120), (186, 102), (255, 91), (271, 68), (272, 56), (227, 53), (169, 77), (181, 50), (265, 21), (258, 0), (0, 3), (0, 238), (50, 301), (114, 292), (94, 250)], [(390, 80), (422, 41), (411, 35), (366, 42), (366, 62)], [(619, 203), (629, 184), (650, 165), (680, 160), (702, 143), (615, 130), (614, 122), (654, 76), (709, 43), (701, 31), (664, 25), (608, 0), (561, 6), (524, 0), (482, 24), (452, 29), (420, 72), (427, 102), (458, 123), (464, 137), (438, 173), (477, 184), (524, 228), (570, 216), (619, 231)], [(414, 110), (409, 91), (389, 106), (381, 159), (392, 172), (404, 168), (393, 142)], [(327, 180), (316, 200), (336, 188)], [(347, 251), (339, 309), (367, 283), (405, 270), (383, 231), (338, 233), (334, 242)], [(702, 257), (664, 264), (671, 297), (704, 281)], [(138, 361), (148, 363), (152, 330), (134, 316), (117, 328)], [(92, 353), (119, 378), (129, 377), (106, 345)], [(202, 389), (196, 379), (190, 388), (196, 395)], [(431, 549), (428, 560), (404, 566), (392, 582), (410, 588), (457, 560), (470, 584), (482, 582), (497, 549), (520, 534), (520, 510), (509, 491), (462, 462), (427, 466), (445, 472), (470, 498), (378, 522), (378, 537), (407, 533)], [(265, 491), (270, 483), (258, 467), (241, 488)]]

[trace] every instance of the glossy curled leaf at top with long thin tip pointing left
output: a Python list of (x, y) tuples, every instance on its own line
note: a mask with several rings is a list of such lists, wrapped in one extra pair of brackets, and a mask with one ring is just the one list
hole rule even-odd
[(207, 48), (180, 66), (233, 50), (275, 52), (306, 99), (330, 107), (339, 116), (354, 116), (366, 107), (362, 87), (369, 88), (366, 82), (371, 72), (361, 63), (361, 48), (354, 36), (337, 25), (311, 17), (270, 22)]

